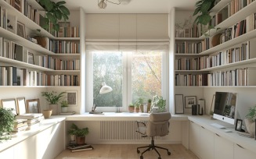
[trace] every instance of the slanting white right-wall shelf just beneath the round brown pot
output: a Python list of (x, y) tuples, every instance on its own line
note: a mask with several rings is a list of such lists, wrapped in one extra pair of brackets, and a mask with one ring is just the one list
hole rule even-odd
[[(256, 1), (254, 1), (254, 2), (256, 2)], [(255, 6), (255, 9), (256, 9), (256, 6)], [(215, 53), (216, 51), (221, 51), (222, 49), (228, 49), (235, 44), (249, 41), (250, 39), (252, 39), (254, 37), (256, 37), (256, 29), (252, 30), (246, 34), (240, 35), (239, 37), (233, 38), (230, 41), (226, 41), (225, 43), (218, 44), (214, 48), (210, 48), (206, 51), (202, 51), (199, 55), (210, 55), (211, 53)]]

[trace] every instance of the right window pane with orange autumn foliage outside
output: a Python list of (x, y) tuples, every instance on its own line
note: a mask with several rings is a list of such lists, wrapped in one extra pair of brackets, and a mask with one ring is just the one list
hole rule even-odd
[(144, 100), (161, 96), (162, 53), (139, 51), (132, 55), (132, 102), (139, 97)]

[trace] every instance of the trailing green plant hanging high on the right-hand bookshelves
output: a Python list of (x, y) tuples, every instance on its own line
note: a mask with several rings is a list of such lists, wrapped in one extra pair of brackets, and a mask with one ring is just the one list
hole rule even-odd
[[(215, 26), (211, 26), (209, 22), (211, 21), (210, 11), (215, 5), (215, 0), (200, 0), (196, 2), (196, 9), (193, 12), (193, 16), (197, 16), (194, 23), (202, 24), (205, 30), (214, 29)], [(218, 29), (217, 29), (218, 30)], [(204, 34), (206, 37), (210, 34)]]

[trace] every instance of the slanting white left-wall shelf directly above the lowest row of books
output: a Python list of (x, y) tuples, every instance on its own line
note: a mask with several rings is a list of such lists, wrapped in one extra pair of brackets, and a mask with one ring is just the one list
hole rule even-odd
[(52, 71), (52, 69), (48, 69), (48, 68), (41, 67), (41, 66), (38, 66), (38, 65), (32, 65), (32, 64), (29, 64), (29, 63), (26, 63), (26, 62), (20, 62), (20, 61), (13, 60), (13, 59), (10, 59), (10, 58), (0, 57), (0, 62), (5, 62), (5, 63), (8, 63), (9, 65), (16, 65), (16, 66), (24, 67), (24, 68), (27, 68), (27, 69), (36, 69), (38, 71)]

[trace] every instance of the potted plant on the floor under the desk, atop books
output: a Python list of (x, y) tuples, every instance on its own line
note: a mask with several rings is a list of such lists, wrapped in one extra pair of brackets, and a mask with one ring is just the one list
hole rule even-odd
[[(78, 128), (78, 125), (75, 125), (74, 123), (72, 123), (72, 125), (70, 126), (70, 129), (73, 129), (74, 132), (73, 135), (76, 136), (76, 142), (81, 145), (81, 144), (85, 144), (85, 136), (88, 135), (89, 130), (88, 128)], [(70, 131), (71, 132), (71, 131)]]

